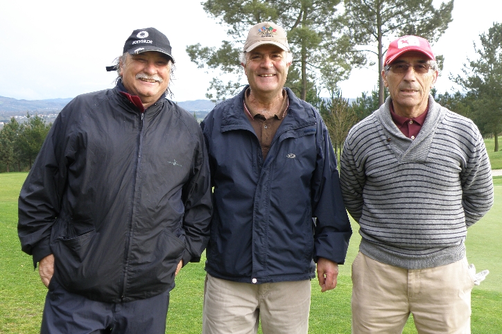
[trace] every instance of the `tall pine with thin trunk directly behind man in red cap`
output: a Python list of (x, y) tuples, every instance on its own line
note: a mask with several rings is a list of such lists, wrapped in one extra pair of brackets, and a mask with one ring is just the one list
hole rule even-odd
[(379, 105), (385, 100), (380, 75), (384, 38), (419, 35), (435, 42), (452, 21), (453, 0), (441, 3), (438, 9), (434, 8), (433, 0), (345, 0), (344, 3), (347, 30), (352, 41), (364, 51), (377, 55)]

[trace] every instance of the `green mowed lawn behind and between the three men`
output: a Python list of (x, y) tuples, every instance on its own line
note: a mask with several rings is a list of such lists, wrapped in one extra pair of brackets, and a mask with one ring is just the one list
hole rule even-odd
[[(0, 174), (0, 333), (39, 333), (46, 294), (31, 256), (21, 252), (17, 238), (17, 196), (25, 177), (26, 173)], [(474, 263), (478, 271), (490, 270), (487, 279), (472, 292), (474, 334), (502, 333), (502, 177), (495, 177), (494, 184), (494, 208), (469, 228), (467, 236), (469, 263)], [(309, 333), (350, 333), (350, 263), (360, 240), (357, 226), (353, 229), (336, 290), (321, 294), (317, 281), (312, 281)], [(200, 333), (204, 279), (203, 262), (182, 269), (171, 293), (166, 333)], [(408, 322), (404, 333), (417, 332)]]

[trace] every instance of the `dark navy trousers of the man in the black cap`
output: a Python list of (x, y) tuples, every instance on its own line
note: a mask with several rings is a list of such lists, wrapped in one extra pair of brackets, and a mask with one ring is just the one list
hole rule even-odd
[(40, 333), (164, 334), (169, 290), (128, 303), (103, 303), (68, 292), (52, 280)]

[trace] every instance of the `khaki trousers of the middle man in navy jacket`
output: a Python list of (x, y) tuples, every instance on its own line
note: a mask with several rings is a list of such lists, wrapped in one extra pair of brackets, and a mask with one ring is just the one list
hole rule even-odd
[(311, 281), (238, 283), (207, 274), (202, 334), (306, 334)]

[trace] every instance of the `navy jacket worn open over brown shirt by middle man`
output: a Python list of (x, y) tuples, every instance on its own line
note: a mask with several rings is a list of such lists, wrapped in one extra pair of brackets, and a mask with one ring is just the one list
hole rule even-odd
[(313, 260), (345, 261), (352, 234), (327, 128), (286, 88), (288, 114), (263, 161), (245, 89), (201, 123), (214, 186), (206, 270), (247, 283), (312, 279)]

